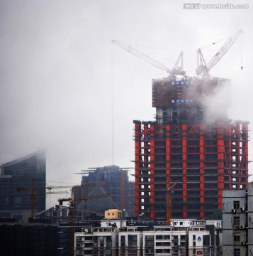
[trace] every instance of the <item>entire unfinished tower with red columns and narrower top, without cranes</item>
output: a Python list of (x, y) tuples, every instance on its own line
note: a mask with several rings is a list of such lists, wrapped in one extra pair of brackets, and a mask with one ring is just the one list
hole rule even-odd
[(165, 219), (170, 210), (172, 218), (203, 219), (221, 213), (223, 190), (247, 189), (248, 181), (249, 123), (227, 117), (230, 80), (152, 80), (152, 106), (155, 121), (133, 121), (135, 216)]

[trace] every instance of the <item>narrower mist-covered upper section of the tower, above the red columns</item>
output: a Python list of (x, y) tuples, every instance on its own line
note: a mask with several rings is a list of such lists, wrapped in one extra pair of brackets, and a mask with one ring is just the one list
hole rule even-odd
[(184, 76), (152, 80), (152, 106), (158, 124), (196, 124), (227, 119), (230, 80)]

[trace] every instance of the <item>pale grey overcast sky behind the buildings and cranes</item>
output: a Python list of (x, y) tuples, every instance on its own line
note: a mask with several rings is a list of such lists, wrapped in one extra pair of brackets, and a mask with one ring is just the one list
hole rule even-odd
[[(252, 127), (253, 4), (237, 0), (229, 4), (249, 8), (184, 9), (189, 3), (0, 0), (0, 163), (45, 149), (47, 181), (69, 183), (80, 183), (74, 173), (88, 167), (134, 166), (133, 120), (153, 120), (152, 79), (167, 74), (112, 40), (168, 68), (183, 50), (184, 69), (195, 75), (197, 48), (243, 29), (210, 74), (232, 80), (230, 117), (249, 120)], [(219, 3), (227, 0), (202, 1)], [(223, 43), (203, 48), (206, 60)]]

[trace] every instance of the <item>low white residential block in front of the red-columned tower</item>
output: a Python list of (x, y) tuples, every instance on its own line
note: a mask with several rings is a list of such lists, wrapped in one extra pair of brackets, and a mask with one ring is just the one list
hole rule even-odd
[[(151, 256), (219, 255), (221, 220), (172, 220), (172, 225), (143, 220), (104, 219), (99, 227), (74, 235), (74, 255)], [(158, 224), (158, 225), (157, 225)], [(160, 224), (160, 225), (159, 225)]]

